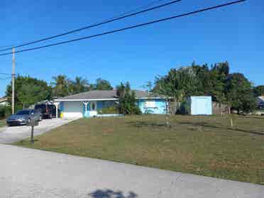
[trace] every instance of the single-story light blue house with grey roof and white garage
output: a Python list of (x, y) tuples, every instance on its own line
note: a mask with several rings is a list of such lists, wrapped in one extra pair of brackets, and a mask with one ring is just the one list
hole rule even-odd
[[(161, 96), (153, 96), (148, 92), (133, 90), (136, 104), (143, 114), (165, 114), (166, 100)], [(114, 106), (119, 101), (116, 90), (94, 90), (57, 98), (54, 104), (62, 112), (62, 118), (82, 118), (97, 116), (98, 111)]]

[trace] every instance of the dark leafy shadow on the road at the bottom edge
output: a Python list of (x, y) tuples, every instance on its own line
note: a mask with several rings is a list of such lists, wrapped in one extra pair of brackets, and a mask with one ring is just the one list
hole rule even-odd
[(138, 194), (134, 192), (129, 192), (128, 195), (126, 196), (121, 191), (114, 192), (111, 189), (105, 189), (105, 190), (97, 189), (96, 191), (90, 193), (89, 197), (92, 197), (92, 198), (136, 198), (138, 197)]

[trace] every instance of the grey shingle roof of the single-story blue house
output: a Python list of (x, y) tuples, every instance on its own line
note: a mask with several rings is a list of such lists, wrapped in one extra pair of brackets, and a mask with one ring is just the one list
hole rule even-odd
[[(153, 98), (154, 96), (152, 94), (149, 94), (148, 92), (145, 91), (140, 91), (140, 90), (133, 90), (136, 94), (136, 98), (141, 99), (141, 98)], [(158, 96), (155, 96), (158, 97)], [(94, 91), (89, 91), (89, 92), (83, 92), (80, 94), (74, 94), (68, 97), (62, 97), (56, 99), (57, 101), (60, 100), (82, 100), (82, 99), (117, 99), (116, 95), (116, 90), (94, 90)]]

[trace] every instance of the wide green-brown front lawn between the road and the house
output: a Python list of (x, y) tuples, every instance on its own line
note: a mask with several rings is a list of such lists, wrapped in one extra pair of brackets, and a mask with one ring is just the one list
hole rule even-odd
[(79, 119), (16, 145), (264, 185), (264, 118), (125, 116)]

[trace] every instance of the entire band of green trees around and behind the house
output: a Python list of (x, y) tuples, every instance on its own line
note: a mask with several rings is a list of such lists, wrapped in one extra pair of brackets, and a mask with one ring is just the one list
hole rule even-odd
[[(53, 77), (48, 84), (44, 80), (29, 76), (16, 77), (16, 110), (27, 108), (38, 101), (66, 97), (90, 90), (111, 90), (112, 85), (106, 79), (97, 79), (90, 83), (82, 77), (70, 79), (66, 75)], [(116, 87), (120, 97), (119, 111), (123, 114), (136, 114), (139, 109), (133, 105), (136, 101), (130, 84), (121, 83)], [(255, 98), (264, 94), (264, 85), (253, 87), (241, 73), (230, 73), (229, 63), (220, 62), (214, 65), (197, 65), (195, 62), (180, 69), (172, 68), (167, 75), (155, 77), (155, 83), (145, 85), (153, 94), (163, 94), (184, 104), (190, 96), (211, 96), (213, 101), (229, 104), (231, 109), (239, 112), (250, 112), (255, 109)], [(6, 97), (11, 104), (11, 83), (6, 87)], [(180, 106), (176, 106), (180, 109)]]

